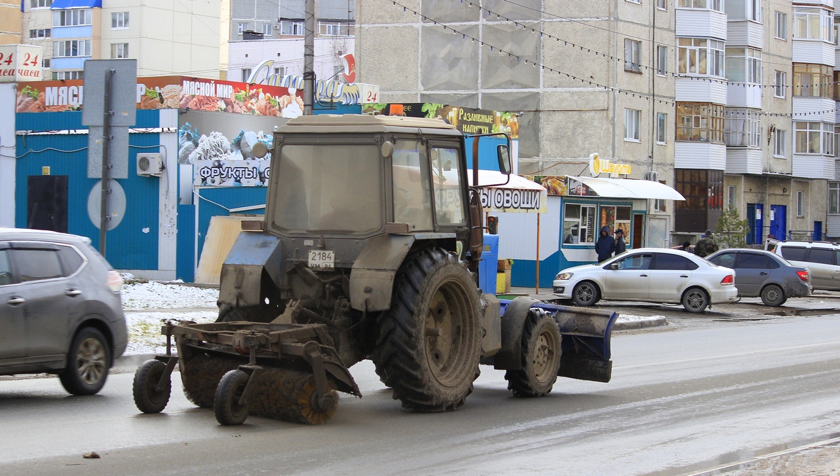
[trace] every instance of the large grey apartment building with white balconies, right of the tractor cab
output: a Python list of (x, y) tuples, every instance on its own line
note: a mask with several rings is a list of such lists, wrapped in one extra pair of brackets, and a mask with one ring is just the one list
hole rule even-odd
[(840, 236), (832, 15), (829, 0), (371, 0), (356, 51), (384, 101), (522, 112), (520, 174), (581, 175), (598, 152), (685, 196), (647, 201), (647, 228), (662, 217), (681, 242), (732, 205), (762, 243), (822, 236), (827, 212)]

